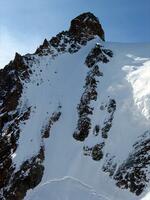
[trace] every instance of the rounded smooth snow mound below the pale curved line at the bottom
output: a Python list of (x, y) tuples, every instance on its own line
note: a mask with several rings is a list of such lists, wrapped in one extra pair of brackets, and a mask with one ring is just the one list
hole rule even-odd
[(54, 179), (37, 187), (29, 199), (72, 199), (72, 200), (107, 200), (96, 194), (93, 188), (72, 177)]

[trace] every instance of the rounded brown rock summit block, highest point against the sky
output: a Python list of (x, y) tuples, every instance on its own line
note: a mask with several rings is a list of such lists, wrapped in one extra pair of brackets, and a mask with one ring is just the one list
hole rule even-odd
[(102, 40), (105, 40), (104, 30), (94, 14), (87, 12), (83, 13), (71, 21), (69, 31), (76, 36), (84, 33), (98, 35)]

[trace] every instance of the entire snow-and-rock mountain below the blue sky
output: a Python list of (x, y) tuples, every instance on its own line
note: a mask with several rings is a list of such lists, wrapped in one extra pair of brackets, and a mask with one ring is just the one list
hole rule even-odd
[(150, 198), (150, 44), (85, 13), (0, 76), (1, 199)]

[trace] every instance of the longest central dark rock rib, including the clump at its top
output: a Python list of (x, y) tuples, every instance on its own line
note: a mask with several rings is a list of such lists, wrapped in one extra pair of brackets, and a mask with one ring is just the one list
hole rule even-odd
[[(96, 50), (95, 50), (96, 49)], [(97, 50), (98, 49), (98, 50)], [(110, 50), (106, 50), (105, 52), (111, 52)], [(98, 77), (103, 76), (103, 74), (99, 70), (99, 66), (97, 63), (102, 62), (106, 63), (109, 62), (109, 54), (106, 55), (101, 49), (100, 45), (96, 45), (85, 60), (85, 64), (90, 71), (88, 72), (86, 79), (85, 79), (85, 90), (81, 97), (80, 103), (77, 107), (78, 110), (78, 123), (76, 131), (73, 134), (73, 137), (76, 140), (84, 141), (85, 138), (88, 137), (89, 131), (91, 129), (91, 119), (90, 115), (93, 114), (93, 107), (90, 106), (91, 101), (97, 100), (97, 80)]]

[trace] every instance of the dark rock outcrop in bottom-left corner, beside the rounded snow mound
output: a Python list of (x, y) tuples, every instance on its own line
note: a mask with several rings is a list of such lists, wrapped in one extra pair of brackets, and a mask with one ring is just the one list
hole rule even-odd
[(8, 182), (10, 187), (4, 187), (2, 197), (10, 200), (22, 200), (27, 190), (33, 189), (41, 182), (44, 172), (43, 160), (44, 147), (41, 147), (36, 156), (26, 160), (17, 172), (11, 174)]

